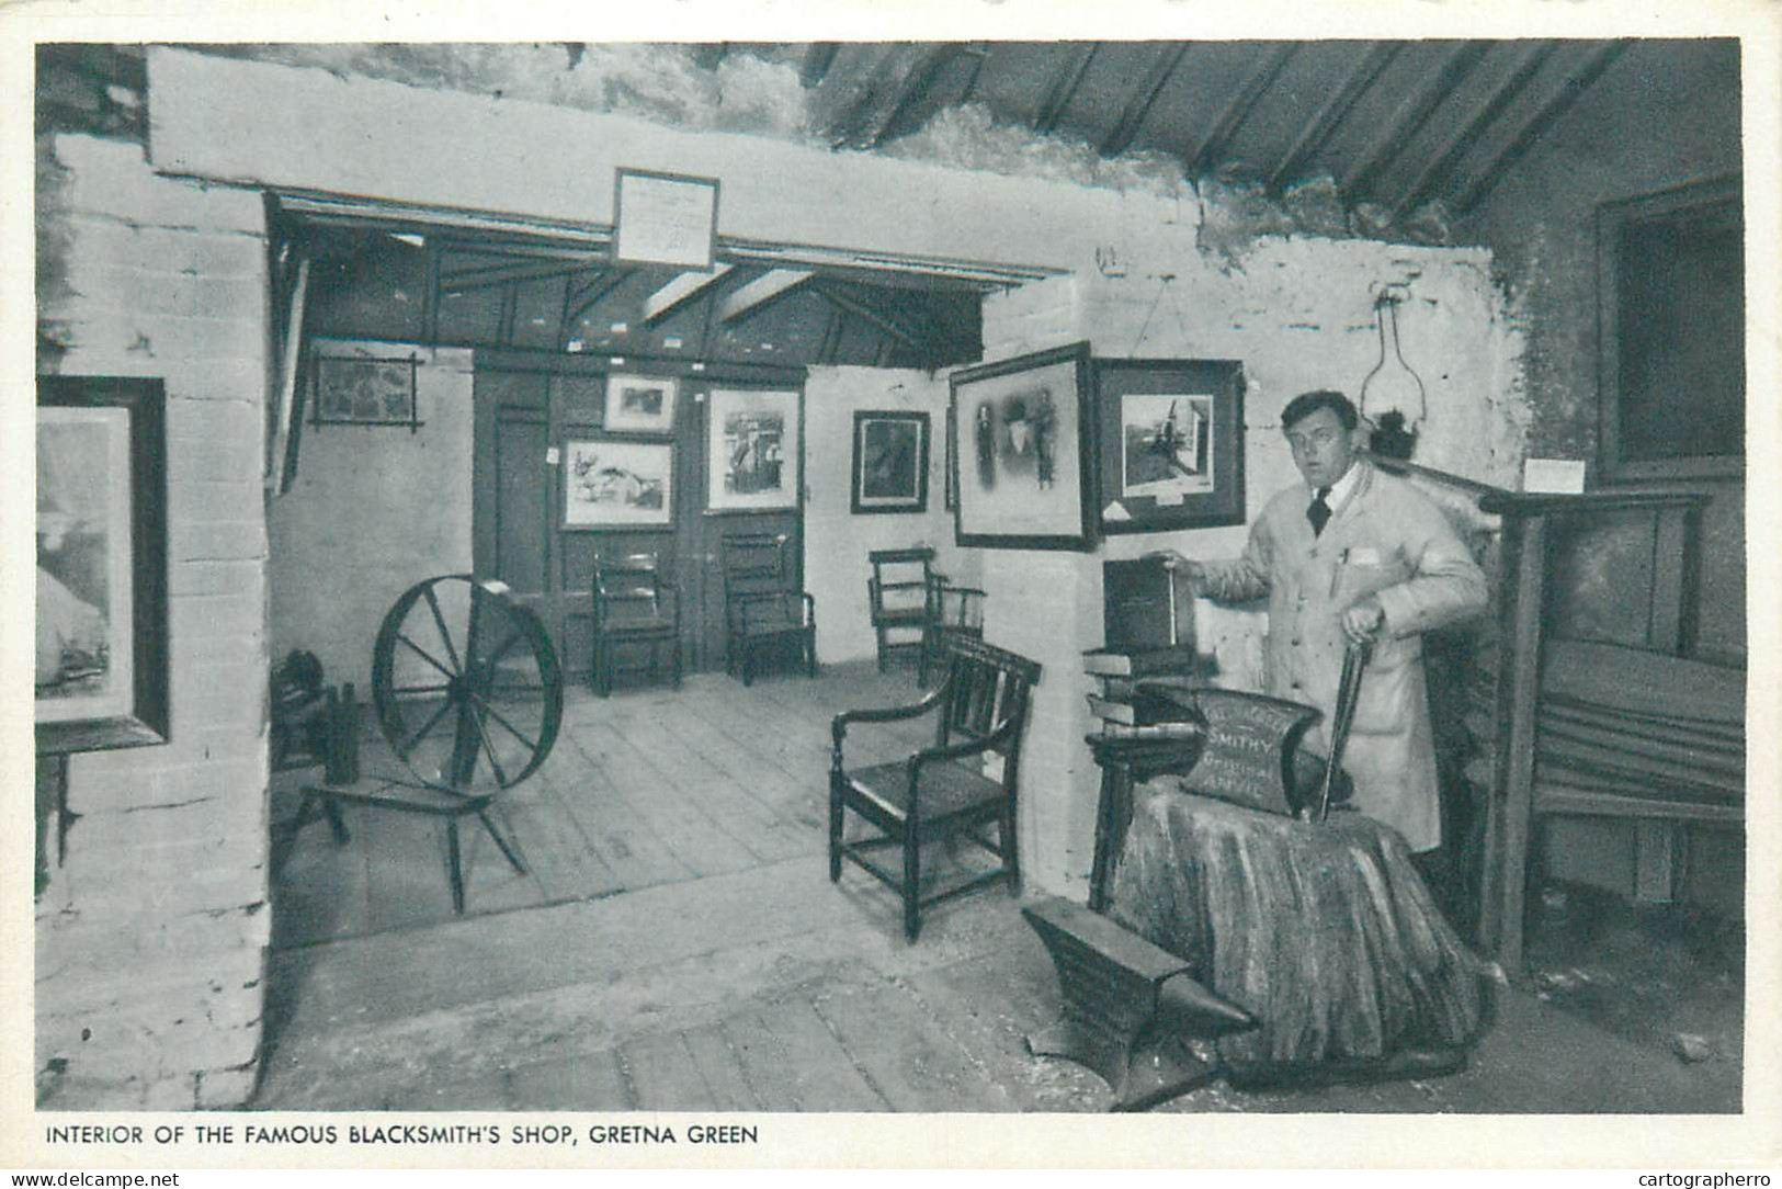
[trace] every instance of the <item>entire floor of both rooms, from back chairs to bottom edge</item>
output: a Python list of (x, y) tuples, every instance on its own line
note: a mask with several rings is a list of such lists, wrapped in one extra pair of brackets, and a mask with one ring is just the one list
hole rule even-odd
[[(440, 827), (347, 809), (274, 877), (255, 1107), (280, 1111), (1105, 1111), (1107, 1087), (1026, 1052), (1057, 1018), (1044, 948), (998, 891), (925, 916), (864, 872), (829, 882), (829, 718), (912, 699), (907, 672), (829, 668), (752, 688), (599, 699), (574, 688), (556, 750), (504, 795), (515, 873), (465, 831), (454, 916)], [(861, 727), (850, 759), (927, 742)], [(367, 743), (364, 767), (390, 768)], [(274, 813), (296, 806), (282, 774)], [(1737, 1103), (1648, 1048), (1504, 993), (1459, 1075), (1242, 1095), (1173, 1112), (1693, 1112)], [(1575, 1077), (1582, 1070), (1590, 1077)]]

